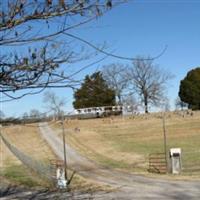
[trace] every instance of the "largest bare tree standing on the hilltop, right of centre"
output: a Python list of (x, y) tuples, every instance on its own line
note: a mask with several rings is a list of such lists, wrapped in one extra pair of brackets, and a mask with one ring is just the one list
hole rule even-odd
[(150, 105), (158, 106), (166, 96), (166, 84), (173, 76), (153, 64), (153, 60), (138, 57), (133, 61), (133, 66), (130, 67), (127, 77), (133, 91), (141, 99), (145, 113), (148, 113)]

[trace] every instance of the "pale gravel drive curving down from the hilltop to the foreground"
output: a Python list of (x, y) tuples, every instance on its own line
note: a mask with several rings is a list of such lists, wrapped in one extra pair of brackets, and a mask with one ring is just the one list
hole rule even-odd
[[(40, 123), (39, 128), (41, 135), (51, 146), (55, 154), (60, 159), (63, 159), (62, 140), (47, 123)], [(200, 181), (169, 181), (133, 175), (109, 168), (102, 168), (95, 162), (83, 157), (68, 144), (66, 144), (66, 151), (68, 166), (78, 174), (115, 188), (114, 192), (106, 194), (106, 199), (200, 199)], [(105, 199), (105, 196), (103, 199)]]

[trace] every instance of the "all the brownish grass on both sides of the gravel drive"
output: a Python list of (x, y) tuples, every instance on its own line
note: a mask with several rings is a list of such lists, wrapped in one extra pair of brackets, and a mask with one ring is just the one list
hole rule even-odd
[[(51, 123), (61, 136), (61, 125)], [(55, 155), (38, 133), (37, 124), (2, 128), (3, 135), (30, 157), (50, 162)], [(89, 120), (66, 120), (66, 140), (83, 155), (100, 165), (148, 174), (150, 153), (163, 152), (161, 114), (134, 117), (110, 117)], [(183, 173), (180, 177), (200, 177), (200, 112), (191, 115), (166, 114), (167, 149), (182, 149)], [(189, 175), (189, 176), (188, 176)], [(27, 186), (45, 185), (43, 180), (25, 167), (3, 144), (0, 146), (0, 178)], [(76, 176), (74, 188), (98, 188), (94, 183)]]

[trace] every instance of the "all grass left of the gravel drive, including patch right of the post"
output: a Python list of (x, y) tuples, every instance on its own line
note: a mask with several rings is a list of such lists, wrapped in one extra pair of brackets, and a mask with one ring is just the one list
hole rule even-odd
[[(3, 127), (2, 133), (12, 145), (34, 160), (51, 165), (51, 160), (57, 159), (48, 144), (41, 138), (37, 124)], [(0, 140), (0, 188), (3, 182), (26, 187), (49, 188), (52, 186), (18, 160)], [(77, 174), (75, 174), (70, 188), (72, 191), (78, 190), (80, 192), (107, 191), (109, 189), (86, 180)]]

